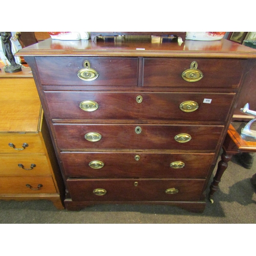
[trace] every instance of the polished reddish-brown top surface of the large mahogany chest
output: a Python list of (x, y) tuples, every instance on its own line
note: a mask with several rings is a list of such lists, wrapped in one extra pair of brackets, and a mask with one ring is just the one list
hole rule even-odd
[(216, 41), (165, 42), (161, 37), (119, 38), (113, 40), (46, 39), (19, 50), (17, 56), (142, 56), (142, 57), (207, 57), (256, 58), (256, 49), (227, 39)]

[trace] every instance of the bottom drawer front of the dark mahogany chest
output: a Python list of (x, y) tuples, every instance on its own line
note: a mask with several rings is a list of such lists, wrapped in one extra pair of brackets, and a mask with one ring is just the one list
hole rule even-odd
[[(196, 201), (204, 185), (204, 180), (175, 179), (68, 179), (67, 182), (73, 201)], [(179, 191), (165, 193), (169, 188)], [(106, 193), (95, 195), (95, 189), (104, 189)]]

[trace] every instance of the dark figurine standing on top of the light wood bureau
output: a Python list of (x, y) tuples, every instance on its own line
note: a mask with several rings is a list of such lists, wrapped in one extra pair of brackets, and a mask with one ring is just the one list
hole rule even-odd
[(11, 32), (0, 32), (2, 47), (6, 58), (9, 60), (11, 65), (5, 66), (6, 73), (14, 73), (22, 71), (22, 66), (15, 62), (14, 56), (12, 54), (12, 43), (11, 43)]

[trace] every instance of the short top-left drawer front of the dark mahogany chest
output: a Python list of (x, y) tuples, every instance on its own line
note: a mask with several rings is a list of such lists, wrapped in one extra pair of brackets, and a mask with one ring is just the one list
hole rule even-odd
[[(43, 85), (59, 86), (125, 86), (138, 84), (138, 58), (100, 57), (36, 57)], [(84, 61), (98, 73), (93, 81), (84, 81), (78, 72), (84, 69)]]

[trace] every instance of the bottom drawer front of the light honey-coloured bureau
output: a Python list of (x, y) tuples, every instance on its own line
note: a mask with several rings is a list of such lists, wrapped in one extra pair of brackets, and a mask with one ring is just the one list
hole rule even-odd
[(0, 194), (55, 193), (56, 188), (51, 177), (0, 177)]

